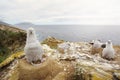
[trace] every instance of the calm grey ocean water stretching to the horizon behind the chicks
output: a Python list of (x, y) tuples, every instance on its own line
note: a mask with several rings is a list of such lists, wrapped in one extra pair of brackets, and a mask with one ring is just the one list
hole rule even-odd
[(37, 25), (33, 28), (40, 41), (53, 36), (73, 42), (90, 42), (95, 39), (100, 39), (102, 42), (112, 40), (113, 44), (120, 45), (119, 25)]

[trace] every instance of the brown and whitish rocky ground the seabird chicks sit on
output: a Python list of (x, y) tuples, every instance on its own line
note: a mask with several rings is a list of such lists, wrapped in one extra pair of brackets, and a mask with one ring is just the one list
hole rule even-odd
[(101, 57), (102, 49), (94, 52), (88, 42), (49, 37), (42, 43), (42, 63), (31, 65), (25, 58), (15, 59), (1, 71), (0, 80), (120, 80), (119, 46), (114, 46), (115, 60), (109, 61)]

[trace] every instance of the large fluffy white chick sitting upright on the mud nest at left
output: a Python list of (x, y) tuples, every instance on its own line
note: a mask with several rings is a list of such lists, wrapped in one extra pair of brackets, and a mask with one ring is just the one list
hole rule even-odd
[(35, 30), (33, 28), (27, 30), (27, 40), (24, 52), (29, 63), (42, 59), (43, 50), (36, 38)]

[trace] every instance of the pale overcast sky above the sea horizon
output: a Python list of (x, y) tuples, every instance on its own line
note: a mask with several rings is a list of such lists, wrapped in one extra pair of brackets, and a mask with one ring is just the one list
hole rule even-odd
[(0, 0), (10, 24), (120, 25), (120, 0)]

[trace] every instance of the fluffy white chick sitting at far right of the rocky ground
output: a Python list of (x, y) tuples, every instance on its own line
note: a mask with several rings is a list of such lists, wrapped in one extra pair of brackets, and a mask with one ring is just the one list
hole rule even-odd
[(110, 40), (106, 43), (106, 48), (102, 51), (102, 57), (107, 59), (114, 59), (115, 57), (115, 50)]

